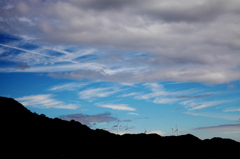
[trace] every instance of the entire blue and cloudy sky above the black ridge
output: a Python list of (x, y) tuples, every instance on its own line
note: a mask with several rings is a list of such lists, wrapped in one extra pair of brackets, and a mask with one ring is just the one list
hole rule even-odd
[(0, 96), (112, 133), (240, 141), (239, 17), (239, 0), (2, 0)]

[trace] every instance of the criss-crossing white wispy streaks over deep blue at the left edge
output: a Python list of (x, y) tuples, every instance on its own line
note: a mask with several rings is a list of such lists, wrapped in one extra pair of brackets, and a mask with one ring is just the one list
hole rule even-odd
[[(22, 35), (24, 36), (24, 35)], [(85, 55), (90, 55), (96, 52), (95, 49), (75, 49), (71, 52), (65, 51), (68, 47), (55, 46), (45, 47), (35, 45), (36, 48), (29, 49), (24, 46), (24, 41), (18, 41), (11, 44), (0, 44), (2, 48), (14, 49), (18, 53), (2, 52), (1, 60), (8, 62), (26, 63), (31, 67), (19, 70), (16, 67), (8, 67), (0, 69), (1, 72), (62, 72), (88, 70), (94, 71), (103, 70), (103, 65), (92, 62), (79, 62), (79, 59)], [(98, 68), (96, 68), (98, 67)]]

